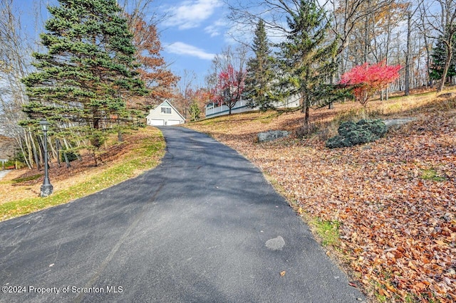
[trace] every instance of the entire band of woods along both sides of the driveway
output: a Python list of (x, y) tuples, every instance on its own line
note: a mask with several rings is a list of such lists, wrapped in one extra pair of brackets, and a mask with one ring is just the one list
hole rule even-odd
[[(59, 1), (48, 20), (36, 16), (40, 41), (13, 4), (0, 6), (0, 127), (29, 168), (41, 168), (43, 144), (59, 164), (71, 165), (81, 148), (96, 163), (106, 134), (121, 140), (164, 98), (196, 120), (208, 102), (231, 108), (243, 98), (264, 110), (294, 95), (308, 123), (309, 108), (356, 97), (360, 83), (342, 76), (366, 64), (396, 67), (397, 76), (368, 89), (385, 100), (417, 87), (440, 92), (456, 79), (452, 0), (226, 1), (239, 43), (220, 46), (202, 87), (194, 72), (179, 78), (163, 59), (157, 24), (166, 16), (154, 14), (152, 0)], [(93, 8), (103, 8), (97, 19), (88, 18)], [(84, 13), (73, 16), (76, 9)], [(48, 142), (36, 128), (43, 118), (52, 126)]]

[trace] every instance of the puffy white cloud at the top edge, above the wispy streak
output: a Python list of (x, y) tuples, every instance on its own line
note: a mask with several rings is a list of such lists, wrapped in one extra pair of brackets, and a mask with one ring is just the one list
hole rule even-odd
[(172, 16), (165, 21), (165, 25), (178, 26), (179, 29), (195, 28), (212, 16), (220, 6), (223, 6), (222, 0), (183, 1), (167, 9)]

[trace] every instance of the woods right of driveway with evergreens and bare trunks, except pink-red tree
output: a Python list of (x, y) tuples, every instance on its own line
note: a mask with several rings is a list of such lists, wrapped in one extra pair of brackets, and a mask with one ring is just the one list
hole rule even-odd
[[(261, 108), (289, 95), (299, 95), (304, 112), (344, 100), (347, 95), (333, 85), (365, 63), (401, 67), (400, 76), (391, 79), (389, 87), (371, 87), (381, 88), (386, 100), (390, 91), (409, 95), (410, 88), (435, 87), (440, 92), (455, 81), (454, 1), (237, 1), (230, 9), (229, 18), (241, 32), (234, 38), (251, 46), (254, 55), (246, 58), (243, 53), (225, 51), (222, 58), (247, 61), (250, 68), (261, 70), (261, 76), (252, 69), (237, 70), (244, 77), (238, 85), (246, 91), (244, 96), (262, 100), (253, 101)], [(242, 38), (252, 36), (242, 28), (257, 28), (253, 43)], [(214, 60), (214, 67), (218, 62), (219, 58)], [(268, 70), (275, 70), (276, 75), (268, 83), (259, 83)], [(209, 78), (217, 82), (217, 73)], [(219, 102), (217, 97), (213, 100)]]

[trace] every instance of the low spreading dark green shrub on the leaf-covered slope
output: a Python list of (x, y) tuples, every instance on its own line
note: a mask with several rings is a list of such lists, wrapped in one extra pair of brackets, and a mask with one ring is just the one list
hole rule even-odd
[(373, 142), (386, 133), (387, 127), (380, 119), (361, 119), (358, 122), (343, 122), (338, 128), (338, 135), (326, 140), (326, 147), (353, 147), (356, 144)]

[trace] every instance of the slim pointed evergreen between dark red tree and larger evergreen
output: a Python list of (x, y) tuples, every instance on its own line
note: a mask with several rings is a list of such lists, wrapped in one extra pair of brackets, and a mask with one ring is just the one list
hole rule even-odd
[(271, 85), (274, 80), (273, 59), (266, 36), (264, 21), (259, 20), (255, 30), (252, 50), (255, 56), (247, 61), (244, 98), (249, 100), (250, 107), (267, 110), (274, 107), (274, 93)]

